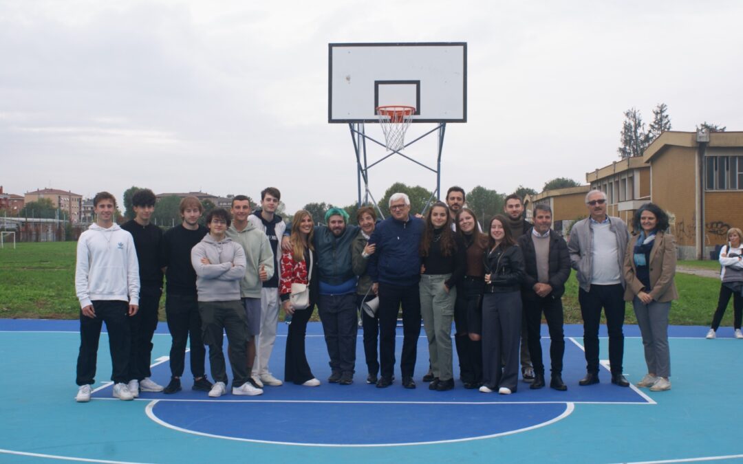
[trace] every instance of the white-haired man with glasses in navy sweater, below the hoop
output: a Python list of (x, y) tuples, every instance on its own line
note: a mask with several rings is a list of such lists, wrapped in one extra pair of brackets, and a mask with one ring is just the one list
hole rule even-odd
[(404, 193), (389, 198), (391, 217), (380, 222), (369, 238), (376, 245), (369, 257), (367, 272), (379, 295), (379, 344), (381, 376), (377, 388), (392, 385), (395, 370), (395, 327), (398, 308), (403, 307), (403, 353), (400, 359), (403, 387), (415, 388), (413, 373), (421, 335), (421, 256), (418, 246), (424, 221), (410, 215), (410, 199)]

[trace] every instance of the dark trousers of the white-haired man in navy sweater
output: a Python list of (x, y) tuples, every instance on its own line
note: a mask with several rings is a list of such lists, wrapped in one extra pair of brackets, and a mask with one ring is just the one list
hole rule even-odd
[(379, 359), (381, 375), (392, 379), (395, 374), (395, 335), (398, 310), (403, 307), (403, 353), (400, 370), (403, 378), (412, 377), (421, 336), (421, 295), (418, 284), (400, 287), (379, 283)]

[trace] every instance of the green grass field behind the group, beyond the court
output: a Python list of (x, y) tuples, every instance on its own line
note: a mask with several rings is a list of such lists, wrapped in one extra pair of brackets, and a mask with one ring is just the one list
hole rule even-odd
[[(0, 317), (65, 318), (78, 317), (80, 305), (75, 297), (76, 242), (21, 243), (16, 249), (0, 249)], [(680, 261), (689, 267), (715, 269), (716, 261)], [(678, 273), (676, 286), (680, 298), (671, 307), (671, 323), (707, 325), (712, 321), (720, 290), (716, 278)], [(163, 319), (160, 301), (160, 318)], [(565, 323), (579, 324), (578, 285), (568, 280), (563, 298)], [(626, 321), (635, 323), (632, 304), (627, 304)], [(317, 318), (317, 313), (314, 314)], [(727, 310), (722, 325), (733, 323), (733, 310)]]

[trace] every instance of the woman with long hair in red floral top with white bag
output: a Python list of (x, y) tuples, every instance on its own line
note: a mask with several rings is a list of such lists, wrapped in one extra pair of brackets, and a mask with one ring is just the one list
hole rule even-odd
[[(315, 378), (310, 370), (305, 354), (305, 333), (307, 333), (307, 322), (312, 316), (315, 307), (315, 295), (317, 295), (317, 278), (314, 278), (315, 269), (308, 272), (308, 264), (312, 266), (317, 262), (314, 247), (312, 246), (313, 223), (310, 213), (301, 209), (294, 215), (291, 226), (291, 252), (283, 252), (281, 257), (281, 281), (279, 293), (281, 293), (282, 308), (287, 315), (291, 315), (289, 333), (286, 337), (286, 354), (284, 364), (284, 379), (296, 385), (317, 387), (320, 381)], [(311, 281), (308, 281), (310, 275)], [(314, 282), (313, 282), (314, 281)], [(304, 310), (295, 310), (289, 296), (291, 295), (291, 284), (306, 284), (310, 287), (310, 306)]]

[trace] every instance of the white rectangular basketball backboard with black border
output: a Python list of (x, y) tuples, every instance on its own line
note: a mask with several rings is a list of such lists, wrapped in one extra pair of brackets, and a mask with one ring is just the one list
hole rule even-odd
[(384, 105), (415, 107), (412, 122), (467, 122), (467, 43), (328, 44), (328, 122), (379, 122)]

